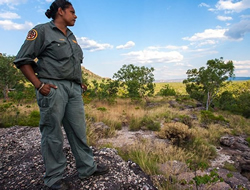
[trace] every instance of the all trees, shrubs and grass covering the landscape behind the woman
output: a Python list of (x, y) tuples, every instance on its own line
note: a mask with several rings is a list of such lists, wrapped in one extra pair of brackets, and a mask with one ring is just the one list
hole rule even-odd
[[(19, 72), (10, 57), (4, 55), (0, 59), (0, 68), (8, 64), (10, 70)], [(138, 163), (150, 175), (160, 174), (159, 164), (173, 160), (194, 163), (203, 169), (208, 167), (216, 156), (215, 147), (221, 136), (245, 134), (250, 138), (250, 81), (227, 84), (224, 75), (233, 72), (233, 63), (223, 64), (221, 59), (208, 61), (207, 69), (189, 71), (184, 84), (154, 84), (153, 68), (124, 65), (114, 79), (103, 79), (83, 68), (83, 81), (88, 86), (83, 99), (89, 144), (117, 148), (124, 159)], [(39, 109), (35, 90), (21, 75), (15, 81), (11, 83), (8, 99), (1, 94), (0, 127), (37, 127)], [(7, 84), (2, 79), (0, 83), (1, 87)], [(201, 107), (208, 104), (207, 110)], [(104, 122), (110, 128), (105, 134), (96, 133), (91, 127), (95, 122)], [(123, 127), (131, 131), (154, 131), (162, 141), (138, 137), (132, 146), (123, 147), (97, 143), (100, 138), (114, 136)], [(159, 189), (171, 184), (161, 186), (158, 184)]]

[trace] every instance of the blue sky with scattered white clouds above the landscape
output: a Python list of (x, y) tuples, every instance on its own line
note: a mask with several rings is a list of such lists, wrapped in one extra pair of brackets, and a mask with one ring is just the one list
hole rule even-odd
[[(207, 60), (232, 60), (250, 76), (250, 0), (71, 0), (70, 29), (87, 69), (112, 78), (124, 64), (154, 67), (156, 80), (184, 79)], [(0, 0), (0, 52), (16, 55), (28, 31), (49, 22), (51, 0)]]

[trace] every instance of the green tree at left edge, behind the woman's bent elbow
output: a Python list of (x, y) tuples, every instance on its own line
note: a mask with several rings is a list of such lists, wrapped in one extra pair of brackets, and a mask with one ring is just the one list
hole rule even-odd
[(0, 88), (5, 100), (8, 99), (8, 92), (13, 90), (20, 81), (25, 80), (20, 70), (13, 64), (14, 59), (14, 56), (0, 55)]

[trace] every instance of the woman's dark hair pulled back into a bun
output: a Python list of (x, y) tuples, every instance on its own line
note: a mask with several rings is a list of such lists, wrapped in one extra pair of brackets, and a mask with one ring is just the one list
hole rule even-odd
[(51, 5), (50, 8), (47, 9), (45, 12), (45, 15), (48, 18), (52, 18), (53, 20), (56, 17), (56, 13), (58, 11), (58, 8), (62, 8), (62, 10), (68, 8), (69, 6), (72, 6), (72, 3), (70, 3), (67, 0), (55, 0)]

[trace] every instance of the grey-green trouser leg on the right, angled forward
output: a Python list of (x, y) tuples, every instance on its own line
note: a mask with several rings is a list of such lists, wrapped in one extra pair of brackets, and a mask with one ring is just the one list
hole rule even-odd
[(72, 83), (70, 92), (63, 118), (63, 126), (76, 160), (79, 177), (85, 178), (95, 172), (96, 163), (92, 149), (87, 145), (85, 114), (80, 85)]

